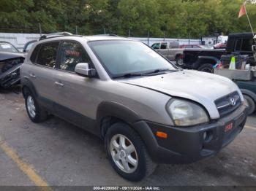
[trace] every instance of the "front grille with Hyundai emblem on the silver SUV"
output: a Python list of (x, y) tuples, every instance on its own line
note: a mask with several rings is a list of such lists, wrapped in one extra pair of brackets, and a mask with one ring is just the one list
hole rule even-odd
[(238, 109), (241, 106), (241, 98), (238, 92), (230, 93), (215, 101), (219, 116), (223, 117)]

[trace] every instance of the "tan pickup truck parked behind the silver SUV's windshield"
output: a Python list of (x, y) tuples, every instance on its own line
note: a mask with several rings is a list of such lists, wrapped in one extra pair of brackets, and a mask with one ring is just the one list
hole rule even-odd
[(170, 61), (176, 61), (178, 66), (182, 66), (182, 55), (184, 48), (180, 48), (178, 42), (157, 42), (151, 46)]

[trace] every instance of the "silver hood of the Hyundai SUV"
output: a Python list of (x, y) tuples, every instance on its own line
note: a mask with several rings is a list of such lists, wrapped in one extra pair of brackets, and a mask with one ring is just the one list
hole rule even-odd
[(219, 118), (217, 106), (214, 104), (218, 98), (238, 91), (242, 101), (244, 99), (237, 85), (230, 79), (201, 71), (176, 71), (150, 77), (121, 79), (119, 82), (196, 101), (206, 108), (211, 119)]

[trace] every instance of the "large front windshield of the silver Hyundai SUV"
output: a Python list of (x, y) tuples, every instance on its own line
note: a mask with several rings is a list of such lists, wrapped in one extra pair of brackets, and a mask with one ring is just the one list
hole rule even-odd
[(89, 42), (110, 77), (177, 70), (172, 63), (142, 42), (111, 40)]

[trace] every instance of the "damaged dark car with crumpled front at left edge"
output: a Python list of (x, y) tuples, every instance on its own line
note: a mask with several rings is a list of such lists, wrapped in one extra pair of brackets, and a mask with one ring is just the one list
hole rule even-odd
[(10, 87), (20, 83), (20, 66), (25, 54), (10, 42), (0, 42), (0, 87)]

